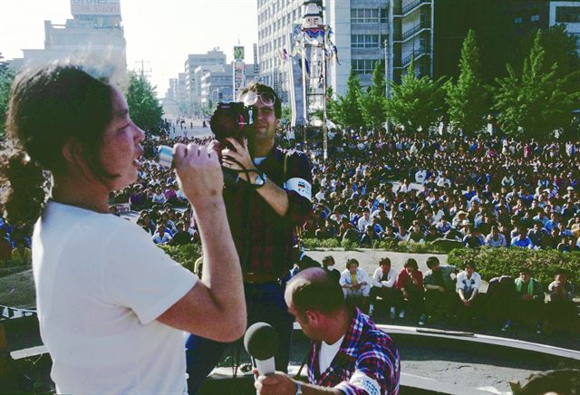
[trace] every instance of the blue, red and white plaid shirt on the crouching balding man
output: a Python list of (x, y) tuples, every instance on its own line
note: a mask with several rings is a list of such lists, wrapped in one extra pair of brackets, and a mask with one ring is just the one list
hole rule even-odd
[(358, 308), (355, 309), (353, 322), (344, 336), (341, 348), (330, 367), (322, 374), (318, 361), (320, 346), (321, 342), (313, 342), (308, 363), (308, 381), (311, 383), (334, 387), (347, 395), (374, 395), (350, 382), (354, 373), (360, 372), (379, 383), (382, 395), (399, 393), (399, 349), (391, 337), (378, 329)]

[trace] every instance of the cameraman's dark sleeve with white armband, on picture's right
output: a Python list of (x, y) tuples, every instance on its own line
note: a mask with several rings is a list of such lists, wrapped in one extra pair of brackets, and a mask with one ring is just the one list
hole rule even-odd
[(284, 188), (288, 196), (286, 219), (302, 225), (312, 213), (312, 165), (303, 152), (287, 153)]

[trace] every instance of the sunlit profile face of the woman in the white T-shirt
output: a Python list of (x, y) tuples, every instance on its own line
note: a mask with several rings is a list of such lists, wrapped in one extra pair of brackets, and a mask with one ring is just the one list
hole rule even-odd
[(105, 171), (118, 177), (108, 182), (111, 190), (125, 188), (138, 178), (145, 134), (129, 116), (129, 106), (119, 89), (112, 90), (112, 120), (102, 137), (99, 157)]

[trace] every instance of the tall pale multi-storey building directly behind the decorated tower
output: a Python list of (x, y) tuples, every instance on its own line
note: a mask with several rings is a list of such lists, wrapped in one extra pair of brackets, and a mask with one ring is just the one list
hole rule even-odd
[[(416, 72), (432, 73), (433, 0), (326, 0), (324, 23), (333, 30), (339, 63), (328, 66), (328, 86), (343, 95), (353, 69), (361, 86), (371, 84), (377, 63), (388, 62), (389, 78), (415, 58)], [(257, 0), (260, 78), (288, 98), (288, 71), (280, 53), (291, 53), (295, 25), (301, 24), (304, 0)], [(386, 51), (385, 51), (386, 49)], [(386, 56), (385, 56), (386, 55)]]

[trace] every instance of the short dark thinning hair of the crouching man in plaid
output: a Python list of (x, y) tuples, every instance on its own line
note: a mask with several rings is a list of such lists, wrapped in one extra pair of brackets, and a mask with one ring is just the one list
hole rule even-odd
[(299, 313), (334, 313), (346, 305), (341, 285), (321, 268), (304, 269), (288, 282), (286, 289), (291, 290), (292, 303)]

